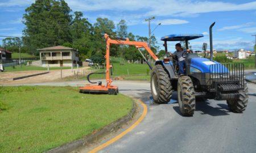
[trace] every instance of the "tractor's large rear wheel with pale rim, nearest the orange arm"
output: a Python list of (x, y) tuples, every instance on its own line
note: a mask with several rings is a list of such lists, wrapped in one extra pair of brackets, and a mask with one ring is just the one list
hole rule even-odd
[(171, 80), (162, 65), (156, 65), (152, 70), (150, 87), (155, 103), (169, 103), (172, 96)]

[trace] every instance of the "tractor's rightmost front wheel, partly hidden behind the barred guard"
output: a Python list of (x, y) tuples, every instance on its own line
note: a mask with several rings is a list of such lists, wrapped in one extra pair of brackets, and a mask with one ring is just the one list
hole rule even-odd
[(230, 111), (234, 113), (242, 113), (243, 111), (245, 111), (245, 108), (247, 107), (249, 96), (246, 82), (245, 89), (240, 90), (238, 92), (240, 94), (238, 99), (226, 100), (226, 103), (228, 104)]

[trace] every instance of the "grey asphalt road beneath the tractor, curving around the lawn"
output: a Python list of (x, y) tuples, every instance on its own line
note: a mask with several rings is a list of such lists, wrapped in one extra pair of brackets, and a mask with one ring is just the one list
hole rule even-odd
[[(34, 85), (83, 86), (84, 82)], [(244, 113), (228, 110), (226, 101), (197, 102), (193, 117), (179, 112), (177, 94), (169, 104), (154, 104), (150, 83), (115, 81), (119, 92), (144, 101), (147, 116), (134, 130), (100, 152), (256, 152), (256, 84), (248, 83)]]

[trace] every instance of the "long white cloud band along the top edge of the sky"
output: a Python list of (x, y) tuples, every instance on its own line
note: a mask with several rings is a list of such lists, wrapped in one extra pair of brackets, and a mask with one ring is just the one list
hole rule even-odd
[(72, 9), (80, 11), (143, 11), (144, 16), (195, 16), (206, 12), (256, 10), (256, 2), (227, 3), (185, 0), (67, 0)]

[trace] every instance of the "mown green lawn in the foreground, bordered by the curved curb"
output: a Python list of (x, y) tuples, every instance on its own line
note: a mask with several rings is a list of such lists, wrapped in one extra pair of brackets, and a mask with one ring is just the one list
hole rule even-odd
[(73, 87), (0, 87), (0, 152), (44, 152), (125, 116), (124, 95), (86, 95)]

